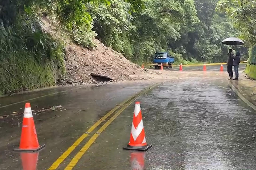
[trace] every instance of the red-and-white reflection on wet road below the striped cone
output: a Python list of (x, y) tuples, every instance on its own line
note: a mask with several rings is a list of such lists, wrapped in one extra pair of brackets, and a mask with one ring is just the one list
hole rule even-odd
[(145, 152), (131, 152), (131, 169), (132, 170), (143, 170), (145, 162)]

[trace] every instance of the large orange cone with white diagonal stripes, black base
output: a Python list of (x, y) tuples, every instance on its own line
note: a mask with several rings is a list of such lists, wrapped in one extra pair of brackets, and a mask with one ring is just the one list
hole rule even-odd
[(123, 147), (123, 149), (146, 151), (151, 146), (152, 145), (147, 145), (146, 142), (140, 102), (136, 102), (133, 114), (133, 123), (131, 125), (130, 142), (127, 147)]

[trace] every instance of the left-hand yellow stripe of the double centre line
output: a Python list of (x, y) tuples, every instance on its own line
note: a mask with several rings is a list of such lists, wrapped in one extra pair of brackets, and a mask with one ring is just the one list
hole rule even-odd
[[(149, 89), (155, 87), (155, 85), (151, 86)], [(58, 166), (67, 158), (67, 156), (70, 155), (70, 153), (83, 141), (83, 139), (85, 139), (89, 133), (91, 133), (99, 124), (101, 124), (102, 121), (104, 121), (107, 117), (109, 117), (112, 113), (114, 113), (118, 108), (120, 108), (122, 105), (124, 105), (125, 103), (127, 103), (128, 101), (134, 99), (136, 97), (138, 97), (139, 95), (143, 94), (145, 91), (148, 91), (149, 89), (146, 90), (142, 90), (140, 92), (138, 92), (137, 94), (133, 95), (132, 97), (130, 97), (129, 99), (123, 101), (122, 103), (120, 103), (118, 106), (116, 106), (115, 108), (113, 108), (111, 111), (109, 111), (105, 116), (103, 116), (100, 120), (98, 120), (93, 126), (91, 126), (88, 131), (86, 132), (86, 134), (83, 134), (81, 137), (79, 137), (74, 143), (73, 145), (71, 145), (51, 166), (50, 168), (48, 168), (47, 170), (55, 170), (58, 168)], [(133, 100), (133, 101), (134, 101)], [(120, 114), (120, 113), (119, 113)]]

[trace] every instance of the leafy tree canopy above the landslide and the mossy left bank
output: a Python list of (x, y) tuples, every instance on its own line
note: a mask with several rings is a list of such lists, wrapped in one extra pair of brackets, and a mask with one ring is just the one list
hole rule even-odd
[(156, 51), (169, 51), (183, 63), (223, 62), (226, 37), (255, 43), (255, 5), (249, 0), (14, 0), (0, 1), (0, 20), (11, 27), (54, 15), (79, 45), (91, 48), (96, 37), (137, 63), (152, 60)]

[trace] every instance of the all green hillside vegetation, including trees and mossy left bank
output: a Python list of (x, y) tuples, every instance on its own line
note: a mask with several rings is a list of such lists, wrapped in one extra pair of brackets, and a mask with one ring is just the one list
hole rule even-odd
[[(255, 5), (247, 0), (0, 1), (0, 95), (51, 86), (65, 75), (62, 42), (42, 31), (42, 16), (55, 18), (86, 48), (96, 37), (138, 64), (151, 61), (156, 51), (169, 51), (176, 63), (187, 64), (226, 61), (230, 47), (221, 44), (226, 37), (240, 36), (252, 49)], [(247, 48), (234, 49), (248, 56)]]

